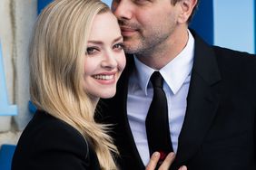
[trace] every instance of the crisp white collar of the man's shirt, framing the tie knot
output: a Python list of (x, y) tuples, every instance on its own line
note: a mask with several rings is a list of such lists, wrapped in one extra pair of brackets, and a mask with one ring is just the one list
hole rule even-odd
[[(168, 87), (172, 90), (173, 94), (181, 89), (183, 82), (191, 74), (193, 52), (194, 52), (194, 38), (192, 33), (188, 30), (189, 40), (185, 48), (180, 52), (172, 61), (166, 64), (160, 73), (162, 78), (167, 83)], [(145, 95), (147, 95), (147, 87), (153, 74), (152, 68), (143, 64), (136, 57), (134, 57), (135, 67), (137, 70), (136, 77), (138, 78), (139, 85)]]

